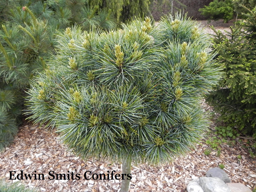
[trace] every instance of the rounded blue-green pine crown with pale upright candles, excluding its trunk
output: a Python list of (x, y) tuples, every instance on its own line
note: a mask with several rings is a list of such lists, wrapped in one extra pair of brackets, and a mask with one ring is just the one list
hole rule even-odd
[(30, 118), (56, 126), (82, 158), (158, 164), (184, 154), (208, 126), (200, 102), (221, 77), (197, 25), (177, 15), (111, 32), (67, 28), (31, 85)]

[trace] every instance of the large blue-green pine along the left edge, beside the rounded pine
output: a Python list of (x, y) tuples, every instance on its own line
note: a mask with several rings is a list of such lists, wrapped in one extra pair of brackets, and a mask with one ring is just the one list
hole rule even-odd
[[(24, 90), (43, 72), (54, 48), (54, 29), (26, 7), (10, 10), (0, 30), (0, 148), (6, 146), (21, 122)], [(26, 22), (22, 23), (22, 20)]]

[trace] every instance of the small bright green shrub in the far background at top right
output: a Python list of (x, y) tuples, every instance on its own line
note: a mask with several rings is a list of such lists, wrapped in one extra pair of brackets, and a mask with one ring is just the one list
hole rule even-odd
[(231, 20), (234, 15), (232, 0), (214, 0), (210, 2), (209, 6), (204, 6), (199, 11), (208, 19), (223, 19), (225, 23)]

